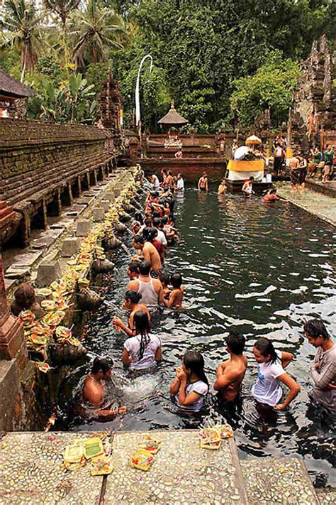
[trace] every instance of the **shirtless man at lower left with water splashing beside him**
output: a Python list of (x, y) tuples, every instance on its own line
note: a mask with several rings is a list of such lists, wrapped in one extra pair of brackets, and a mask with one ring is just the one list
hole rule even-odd
[(95, 358), (83, 387), (84, 400), (91, 403), (92, 408), (96, 408), (99, 418), (104, 419), (113, 418), (117, 414), (125, 414), (127, 411), (126, 407), (119, 407), (113, 411), (108, 408), (108, 405), (103, 406), (106, 396), (105, 383), (111, 381), (112, 365), (113, 363), (109, 363), (107, 359)]

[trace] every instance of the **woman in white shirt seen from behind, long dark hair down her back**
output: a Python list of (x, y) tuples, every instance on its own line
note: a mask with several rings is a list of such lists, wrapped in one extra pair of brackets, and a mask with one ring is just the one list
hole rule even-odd
[(130, 337), (123, 346), (123, 364), (130, 369), (152, 368), (162, 357), (162, 342), (156, 335), (150, 335), (150, 322), (147, 313), (138, 310), (133, 316), (135, 337)]

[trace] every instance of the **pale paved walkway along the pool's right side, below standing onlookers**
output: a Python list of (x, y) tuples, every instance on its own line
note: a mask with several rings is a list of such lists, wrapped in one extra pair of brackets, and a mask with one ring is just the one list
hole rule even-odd
[(276, 188), (281, 198), (336, 226), (335, 198), (308, 189), (305, 192), (293, 192), (290, 183), (276, 183)]

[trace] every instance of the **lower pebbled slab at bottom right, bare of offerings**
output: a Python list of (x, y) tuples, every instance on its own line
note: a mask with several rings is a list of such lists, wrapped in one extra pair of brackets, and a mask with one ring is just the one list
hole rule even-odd
[(250, 505), (318, 505), (301, 460), (271, 457), (240, 461)]

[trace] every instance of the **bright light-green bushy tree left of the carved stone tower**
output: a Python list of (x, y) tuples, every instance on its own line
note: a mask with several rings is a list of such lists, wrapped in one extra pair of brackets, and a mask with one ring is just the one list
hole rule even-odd
[(240, 124), (253, 124), (257, 116), (269, 107), (275, 124), (286, 120), (299, 74), (297, 63), (283, 60), (280, 51), (274, 51), (254, 75), (237, 79), (230, 105)]

